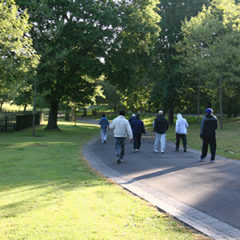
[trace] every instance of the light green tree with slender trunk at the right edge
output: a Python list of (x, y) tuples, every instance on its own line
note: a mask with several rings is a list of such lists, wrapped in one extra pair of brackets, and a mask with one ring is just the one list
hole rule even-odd
[(180, 51), (186, 57), (185, 62), (193, 63), (193, 68), (207, 69), (206, 86), (212, 89), (212, 102), (219, 96), (221, 127), (223, 95), (225, 98), (236, 97), (239, 88), (239, 14), (240, 6), (235, 1), (214, 0), (210, 7), (204, 7), (196, 17), (186, 20), (182, 27), (184, 39)]

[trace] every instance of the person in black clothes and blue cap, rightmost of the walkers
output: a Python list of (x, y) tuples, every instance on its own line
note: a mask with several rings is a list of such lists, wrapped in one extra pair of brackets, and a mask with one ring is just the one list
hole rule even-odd
[(202, 119), (200, 137), (202, 139), (202, 154), (200, 161), (204, 162), (208, 152), (208, 145), (211, 151), (211, 163), (215, 162), (216, 155), (216, 130), (218, 127), (217, 118), (213, 115), (211, 108), (206, 109), (206, 115)]

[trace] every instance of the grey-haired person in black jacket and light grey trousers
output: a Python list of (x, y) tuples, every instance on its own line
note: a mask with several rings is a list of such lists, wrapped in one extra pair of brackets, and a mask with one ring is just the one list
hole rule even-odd
[(154, 120), (154, 133), (155, 133), (155, 142), (154, 142), (154, 152), (159, 152), (159, 145), (161, 143), (161, 153), (164, 153), (165, 143), (166, 143), (166, 132), (168, 130), (168, 121), (163, 116), (163, 111), (158, 112), (157, 118)]

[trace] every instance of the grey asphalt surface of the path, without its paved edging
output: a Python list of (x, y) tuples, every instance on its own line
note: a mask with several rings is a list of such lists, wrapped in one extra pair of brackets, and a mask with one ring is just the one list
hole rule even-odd
[(143, 136), (139, 152), (133, 151), (126, 139), (123, 163), (114, 156), (114, 138), (109, 134), (106, 144), (96, 141), (91, 151), (111, 169), (127, 176), (131, 184), (143, 182), (149, 188), (164, 193), (182, 203), (240, 229), (240, 162), (209, 156), (199, 162), (200, 152), (175, 152), (167, 142), (165, 153), (153, 152), (154, 136)]

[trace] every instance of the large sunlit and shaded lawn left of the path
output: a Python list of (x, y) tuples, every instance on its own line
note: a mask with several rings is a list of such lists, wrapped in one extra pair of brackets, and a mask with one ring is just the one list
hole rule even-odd
[(99, 128), (0, 134), (0, 240), (207, 239), (91, 171)]

